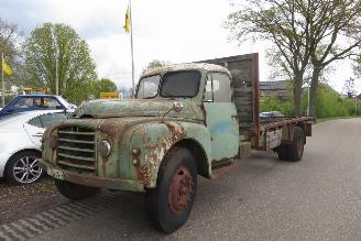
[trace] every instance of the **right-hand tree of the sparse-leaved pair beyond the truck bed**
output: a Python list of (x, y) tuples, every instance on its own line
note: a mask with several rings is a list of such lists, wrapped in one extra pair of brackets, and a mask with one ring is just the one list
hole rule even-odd
[(336, 61), (355, 55), (355, 50), (361, 46), (361, 1), (315, 1), (311, 8), (315, 15), (309, 31), (314, 45), (310, 55), (313, 76), (309, 112), (315, 114), (321, 72)]

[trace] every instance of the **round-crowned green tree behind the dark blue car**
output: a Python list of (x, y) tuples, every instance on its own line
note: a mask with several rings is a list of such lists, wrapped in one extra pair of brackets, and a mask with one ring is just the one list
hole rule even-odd
[(72, 102), (88, 99), (97, 80), (96, 65), (89, 47), (72, 26), (44, 23), (34, 29), (24, 44), (25, 64), (34, 85), (56, 92), (56, 68), (59, 95)]

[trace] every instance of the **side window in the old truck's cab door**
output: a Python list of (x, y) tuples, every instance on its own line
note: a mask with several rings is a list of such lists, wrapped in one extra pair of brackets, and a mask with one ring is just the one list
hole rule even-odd
[(231, 102), (231, 80), (222, 73), (209, 73), (206, 81), (204, 101)]

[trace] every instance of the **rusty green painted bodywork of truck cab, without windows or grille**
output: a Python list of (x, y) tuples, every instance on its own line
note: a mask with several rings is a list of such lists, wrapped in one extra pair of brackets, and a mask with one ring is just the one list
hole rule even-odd
[[(210, 177), (212, 160), (230, 158), (238, 154), (239, 134), (237, 120), (232, 118), (237, 114), (232, 102), (203, 103), (206, 76), (209, 72), (230, 74), (217, 65), (187, 64), (152, 70), (145, 76), (164, 75), (174, 70), (200, 73), (199, 91), (194, 98), (171, 99), (157, 96), (152, 99), (85, 102), (78, 108), (74, 119), (65, 120), (46, 130), (43, 164), (47, 169), (63, 169), (65, 174), (62, 178), (69, 182), (142, 191), (140, 184), (142, 187), (155, 187), (160, 165), (169, 149), (179, 144), (190, 144), (197, 146), (203, 154), (204, 158), (197, 162), (204, 162), (204, 175)], [(179, 112), (169, 111), (174, 102), (182, 103)], [(169, 113), (163, 118), (167, 111)], [(57, 151), (56, 147), (52, 149), (52, 142), (57, 140), (57, 129), (62, 127), (94, 130), (95, 173), (79, 174), (58, 165)], [(106, 158), (100, 156), (98, 150), (103, 140), (107, 140), (112, 149)], [(53, 174), (54, 171), (50, 173)], [(56, 178), (59, 175), (53, 176)]]

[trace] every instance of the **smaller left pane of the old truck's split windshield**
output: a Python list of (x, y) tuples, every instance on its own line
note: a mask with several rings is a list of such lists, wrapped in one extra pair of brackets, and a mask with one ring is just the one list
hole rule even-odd
[(138, 85), (136, 98), (146, 99), (157, 95), (161, 76), (154, 75), (142, 78)]

